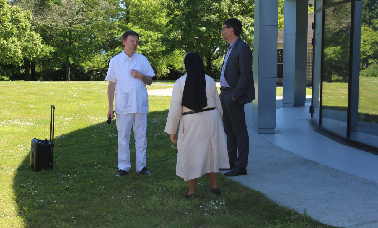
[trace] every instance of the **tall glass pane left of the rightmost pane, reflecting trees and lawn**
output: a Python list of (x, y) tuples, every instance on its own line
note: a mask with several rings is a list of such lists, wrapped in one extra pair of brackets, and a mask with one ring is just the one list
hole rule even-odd
[(321, 126), (344, 138), (347, 138), (351, 5), (349, 2), (324, 11)]

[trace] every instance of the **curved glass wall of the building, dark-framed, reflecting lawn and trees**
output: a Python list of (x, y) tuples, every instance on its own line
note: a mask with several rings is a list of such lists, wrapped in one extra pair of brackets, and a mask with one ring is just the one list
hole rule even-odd
[(378, 0), (316, 0), (311, 121), (378, 152)]

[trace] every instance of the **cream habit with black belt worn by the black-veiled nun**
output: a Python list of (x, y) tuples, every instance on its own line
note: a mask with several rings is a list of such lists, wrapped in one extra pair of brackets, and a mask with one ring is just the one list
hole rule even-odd
[[(176, 134), (177, 165), (176, 175), (184, 181), (201, 177), (205, 173), (218, 172), (219, 168), (229, 168), (226, 135), (222, 124), (222, 105), (214, 80), (205, 75), (206, 97), (211, 111), (181, 116), (183, 112), (193, 111), (181, 106), (186, 75), (175, 82), (172, 91), (165, 132)], [(205, 109), (203, 108), (203, 109)]]

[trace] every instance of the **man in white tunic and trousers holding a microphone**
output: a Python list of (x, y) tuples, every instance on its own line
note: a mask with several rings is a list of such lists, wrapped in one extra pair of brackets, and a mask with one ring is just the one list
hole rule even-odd
[[(147, 58), (135, 53), (139, 35), (128, 30), (122, 37), (124, 50), (113, 57), (106, 75), (108, 84), (108, 119), (117, 116), (118, 168), (116, 176), (128, 174), (130, 164), (130, 132), (134, 124), (136, 171), (151, 173), (146, 168), (148, 96), (146, 85), (152, 84), (155, 72)], [(115, 91), (115, 92), (114, 92)], [(116, 97), (113, 112), (114, 94)]]

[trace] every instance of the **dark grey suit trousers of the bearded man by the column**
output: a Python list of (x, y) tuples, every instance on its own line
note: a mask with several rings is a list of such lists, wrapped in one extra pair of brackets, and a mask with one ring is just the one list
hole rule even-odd
[(223, 127), (227, 136), (228, 159), (235, 166), (247, 167), (249, 154), (248, 129), (245, 123), (244, 104), (233, 101), (232, 90), (220, 92), (223, 108)]

